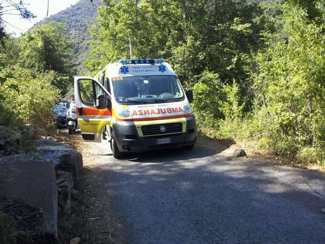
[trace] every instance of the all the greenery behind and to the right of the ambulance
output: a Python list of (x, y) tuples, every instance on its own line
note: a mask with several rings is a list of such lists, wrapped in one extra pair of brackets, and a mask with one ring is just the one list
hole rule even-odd
[(323, 0), (103, 0), (93, 73), (129, 57), (170, 62), (201, 133), (325, 167)]

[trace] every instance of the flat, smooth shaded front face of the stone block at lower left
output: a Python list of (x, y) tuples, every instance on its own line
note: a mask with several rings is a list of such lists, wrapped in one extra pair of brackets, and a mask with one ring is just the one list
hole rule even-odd
[(54, 163), (24, 153), (0, 157), (0, 197), (41, 208), (45, 233), (57, 237), (58, 195)]

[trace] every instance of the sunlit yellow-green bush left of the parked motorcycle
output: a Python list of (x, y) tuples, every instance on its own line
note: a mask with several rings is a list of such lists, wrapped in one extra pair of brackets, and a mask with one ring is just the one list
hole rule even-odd
[[(8, 85), (16, 85), (17, 89), (3, 91), (6, 111), (10, 110), (19, 122), (36, 125), (48, 133), (53, 131), (52, 108), (60, 97), (59, 90), (51, 85), (56, 76), (54, 71), (49, 71), (34, 77), (29, 70), (17, 69), (16, 78), (6, 81)], [(13, 121), (9, 121), (11, 123)]]

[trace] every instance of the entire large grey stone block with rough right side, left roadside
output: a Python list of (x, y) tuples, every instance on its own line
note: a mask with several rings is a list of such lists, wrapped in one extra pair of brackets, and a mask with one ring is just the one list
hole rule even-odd
[(58, 205), (63, 215), (70, 214), (73, 185), (81, 179), (82, 156), (53, 140), (39, 139), (34, 144), (38, 149), (34, 155), (0, 157), (0, 197), (41, 208), (45, 233), (57, 237)]

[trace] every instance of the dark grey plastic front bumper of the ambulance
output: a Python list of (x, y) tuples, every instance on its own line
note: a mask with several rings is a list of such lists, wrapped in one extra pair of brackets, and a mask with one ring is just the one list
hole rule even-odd
[[(197, 129), (195, 117), (186, 117), (186, 132), (159, 136), (140, 137), (133, 122), (116, 121), (113, 125), (114, 138), (121, 152), (141, 152), (162, 148), (190, 146), (195, 144)], [(157, 144), (156, 139), (171, 138), (170, 144)]]

